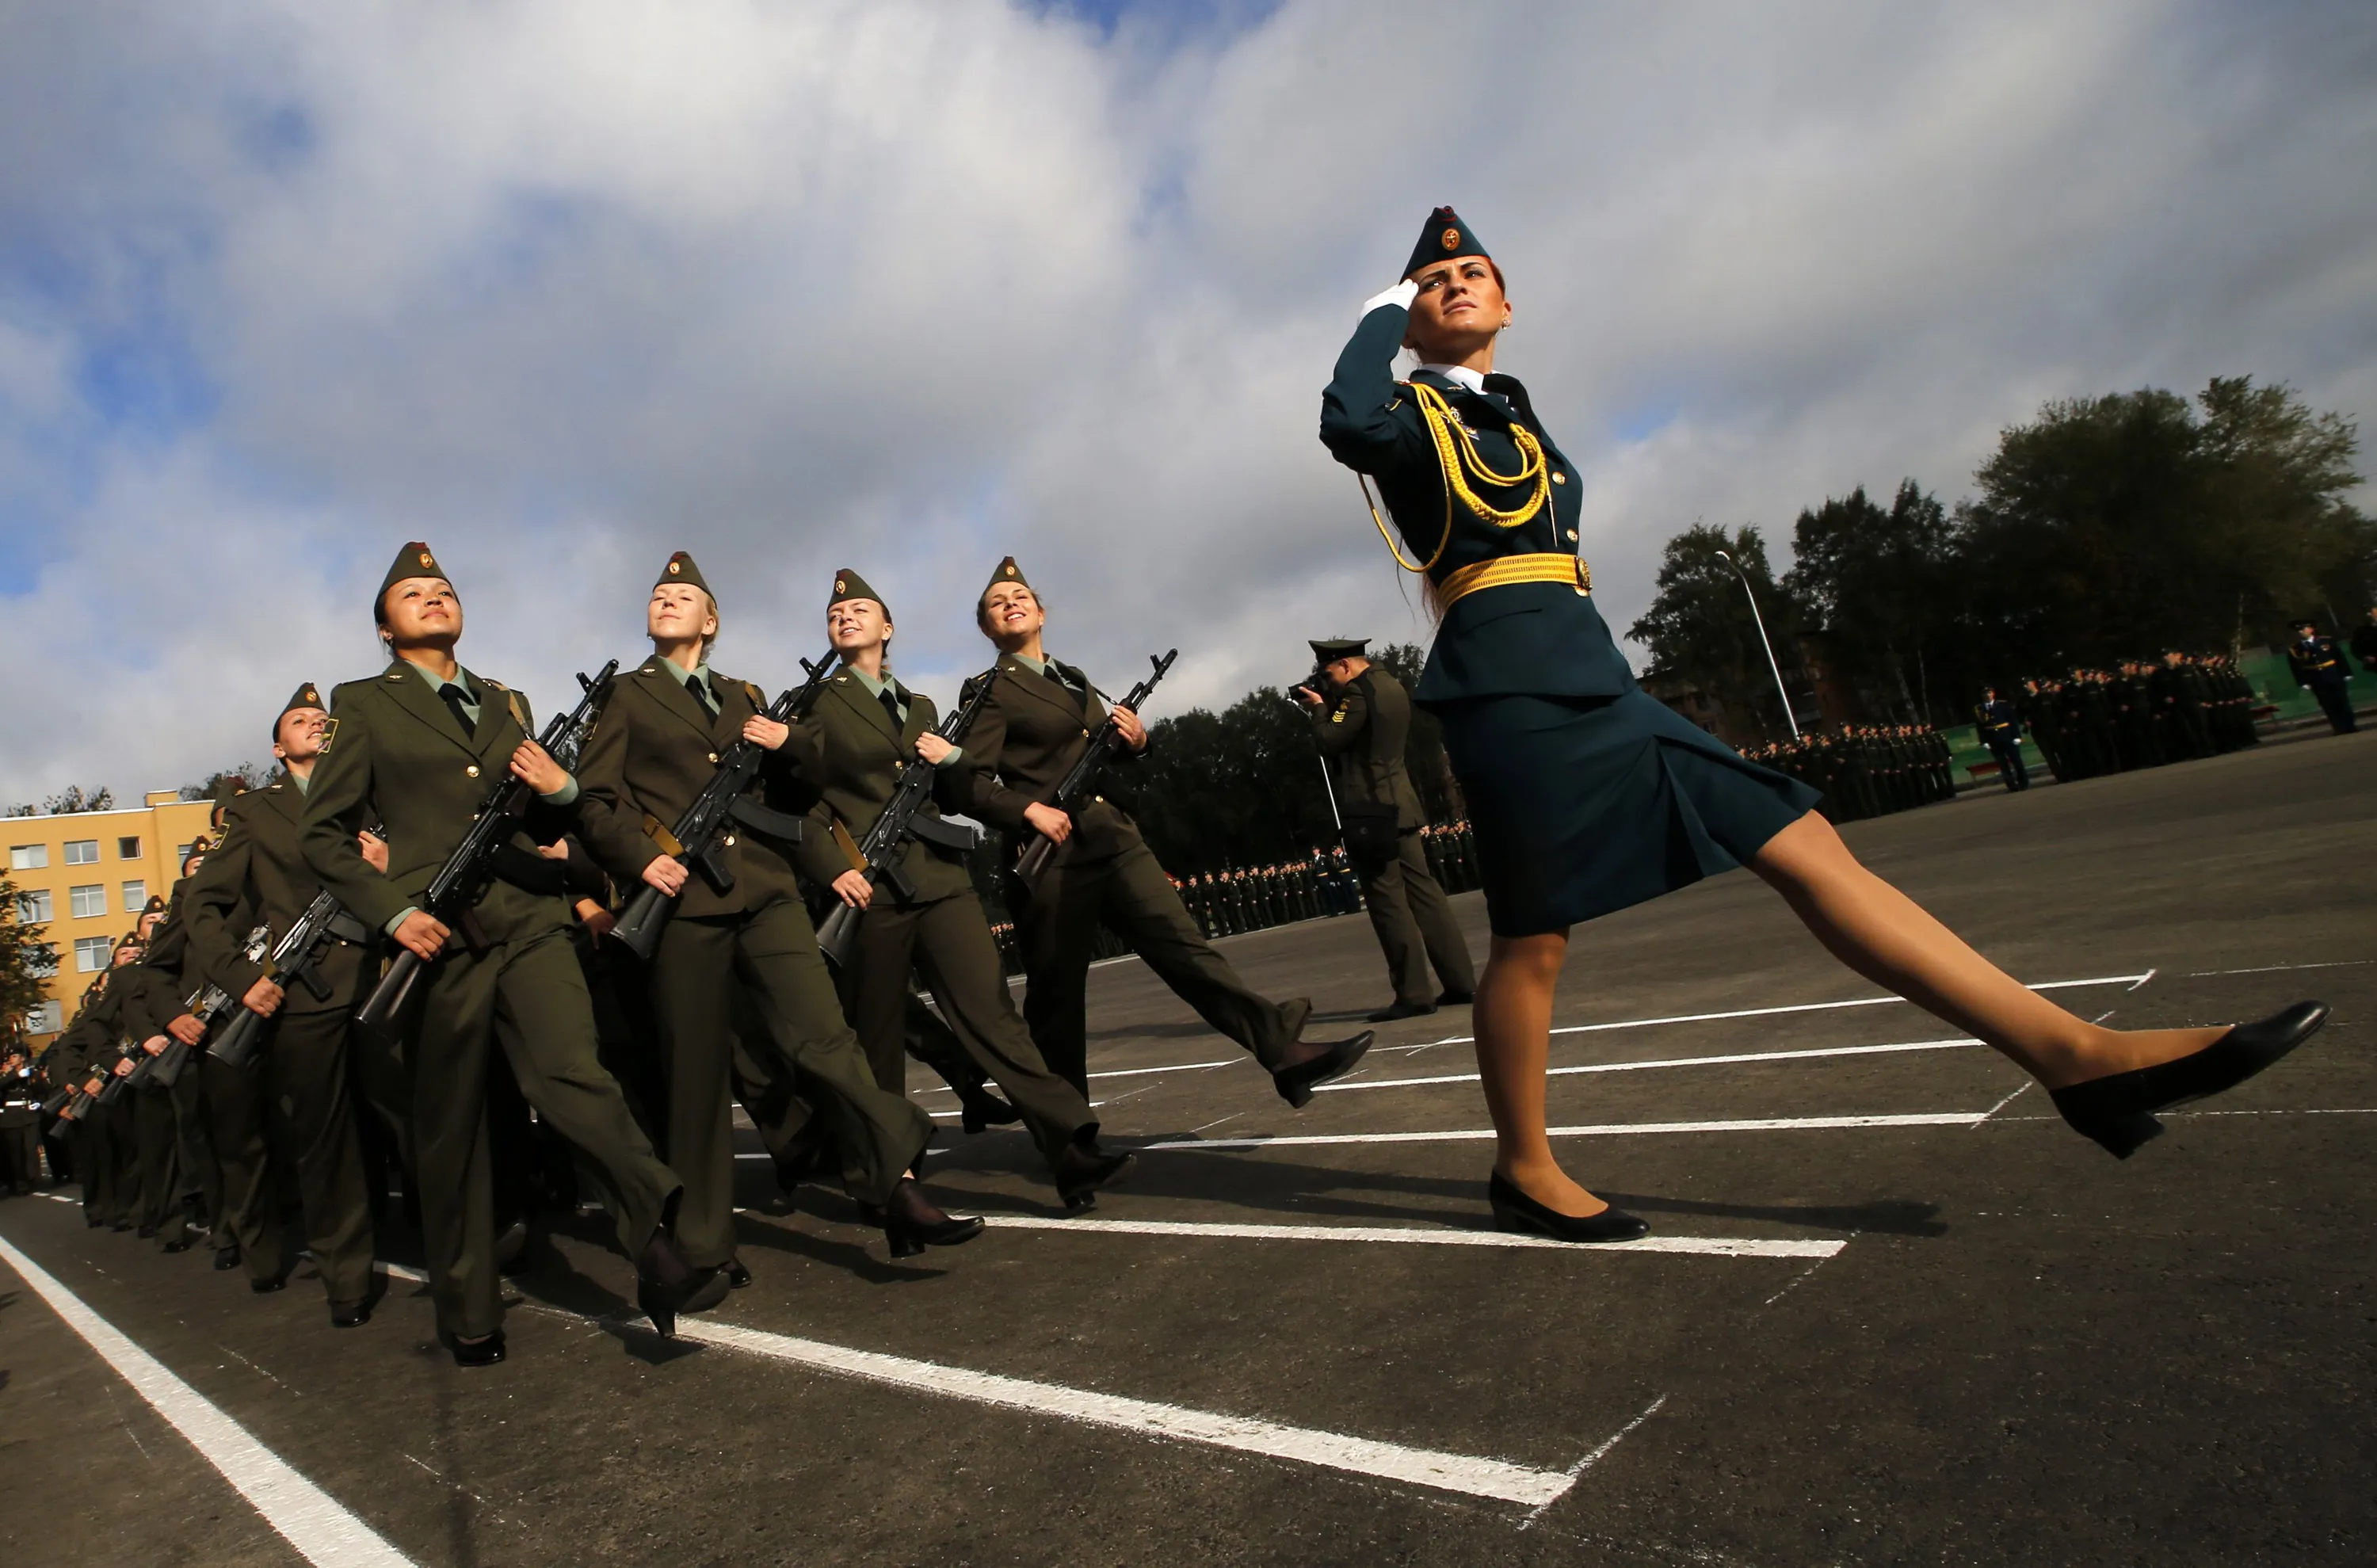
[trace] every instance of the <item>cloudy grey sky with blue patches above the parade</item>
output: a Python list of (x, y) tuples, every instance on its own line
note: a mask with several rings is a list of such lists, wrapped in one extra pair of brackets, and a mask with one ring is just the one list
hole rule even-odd
[(257, 758), (395, 546), (540, 708), (692, 549), (784, 684), (837, 565), (946, 696), (1003, 554), (1155, 713), (1421, 639), (1314, 440), (1450, 202), (1619, 627), (1695, 518), (2042, 399), (2377, 416), (2367, 5), (0, 7), (0, 798)]

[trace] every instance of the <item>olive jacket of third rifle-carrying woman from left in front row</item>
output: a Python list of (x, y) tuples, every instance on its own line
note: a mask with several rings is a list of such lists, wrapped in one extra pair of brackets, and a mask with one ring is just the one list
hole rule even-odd
[[(815, 827), (801, 839), (801, 870), (818, 886), (830, 886), (841, 872), (858, 870), (834, 839), (832, 827), (839, 822), (851, 841), (865, 839), (875, 820), (882, 817), (884, 805), (891, 803), (901, 767), (915, 758), (915, 736), (932, 729), (941, 717), (929, 696), (918, 696), (908, 687), (896, 689), (908, 703), (908, 722), (899, 729), (891, 727), (891, 715), (884, 706), (868, 696), (865, 684), (849, 672), (825, 682), (825, 691), (808, 715), (822, 746), (822, 770), (818, 772), (822, 798), (811, 808)], [(967, 755), (972, 755), (972, 748), (967, 748)], [(941, 805), (965, 810), (965, 798), (967, 767), (958, 760), (937, 772), (934, 801), (927, 801), (920, 815), (939, 815)], [(958, 853), (920, 843), (918, 839), (901, 846), (899, 870), (915, 886), (918, 903), (934, 903), (975, 889)], [(891, 886), (887, 881), (877, 889), (877, 898), (889, 896)]]

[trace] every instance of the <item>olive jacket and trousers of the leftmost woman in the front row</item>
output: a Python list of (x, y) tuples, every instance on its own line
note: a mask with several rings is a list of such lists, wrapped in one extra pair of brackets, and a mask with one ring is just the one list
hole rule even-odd
[[(456, 682), (480, 691), (468, 732), (404, 660), (330, 696), (333, 732), (314, 765), (297, 836), (307, 867), (368, 929), (387, 931), (421, 905), (528, 739), (525, 698), (468, 670)], [(559, 839), (568, 817), (540, 803), (528, 827), (513, 832), (506, 862), (532, 867), (537, 839)], [(373, 822), (387, 824), (385, 877), (357, 848), (357, 834)], [(437, 1326), (471, 1340), (502, 1326), (487, 1152), (487, 1052), (497, 1041), (528, 1102), (609, 1181), (628, 1257), (661, 1228), (680, 1183), (654, 1157), (594, 1055), (594, 1012), (570, 950), (568, 900), (499, 874), (447, 924), (454, 934), (414, 986), (418, 1012), (404, 1029), (404, 1048)]]

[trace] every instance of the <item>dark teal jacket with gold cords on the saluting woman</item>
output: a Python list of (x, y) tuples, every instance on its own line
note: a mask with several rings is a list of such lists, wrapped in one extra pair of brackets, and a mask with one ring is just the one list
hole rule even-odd
[[(1336, 378), (1322, 392), (1322, 444), (1336, 461), (1379, 482), (1405, 554), (1426, 561), (1445, 535), (1445, 478), (1410, 385), (1395, 380), (1407, 321), (1410, 311), (1400, 304), (1362, 316), (1338, 354)], [(1536, 432), (1552, 468), (1550, 504), (1519, 527), (1498, 527), (1455, 497), (1452, 539), (1429, 575), (1443, 582), (1455, 568), (1493, 556), (1574, 556), (1581, 506), (1576, 466), (1543, 432), (1526, 387), (1509, 375), (1488, 375), (1486, 392), (1469, 392), (1431, 371), (1414, 373), (1414, 380), (1445, 394), (1462, 425), (1476, 432), (1478, 459), (1495, 473), (1519, 470), (1519, 447), (1509, 437), (1514, 425)], [(1478, 480), (1471, 487), (1505, 511), (1531, 494), (1528, 487)], [(1566, 582), (1514, 582), (1467, 594), (1445, 611), (1414, 696), (1443, 703), (1505, 694), (1619, 696), (1631, 689), (1633, 672), (1590, 594)]]

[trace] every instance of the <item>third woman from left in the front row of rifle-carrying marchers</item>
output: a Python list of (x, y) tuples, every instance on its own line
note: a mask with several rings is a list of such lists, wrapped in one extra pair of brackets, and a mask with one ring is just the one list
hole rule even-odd
[[(844, 843), (865, 839), (899, 789), (901, 770), (922, 758), (939, 770), (934, 794), (920, 817), (937, 805), (963, 810), (965, 751), (934, 732), (939, 713), (929, 696), (899, 684), (884, 665), (891, 646), (891, 611), (851, 570), (834, 573), (825, 627), (841, 656), (841, 672), (825, 687), (811, 727), (825, 748), (818, 772), (822, 801), (811, 810), (801, 841), (803, 870), (830, 886), (858, 917), (853, 953), (853, 1012), (858, 1041), (875, 1081), (901, 1093), (908, 1062), (903, 1048), (908, 974), (922, 967), (941, 1017), (965, 1052), (1008, 1093), (1024, 1128), (1048, 1159), (1067, 1209), (1086, 1209), (1096, 1190), (1129, 1171), (1134, 1155), (1098, 1147), (1098, 1114), (1065, 1079), (1048, 1071), (1032, 1033), (1015, 1014), (1005, 965), (991, 941), (991, 922), (965, 874), (965, 853), (925, 839), (899, 848), (906, 886), (870, 881)], [(841, 834), (832, 829), (841, 827)], [(927, 822), (929, 827), (929, 822)]]

